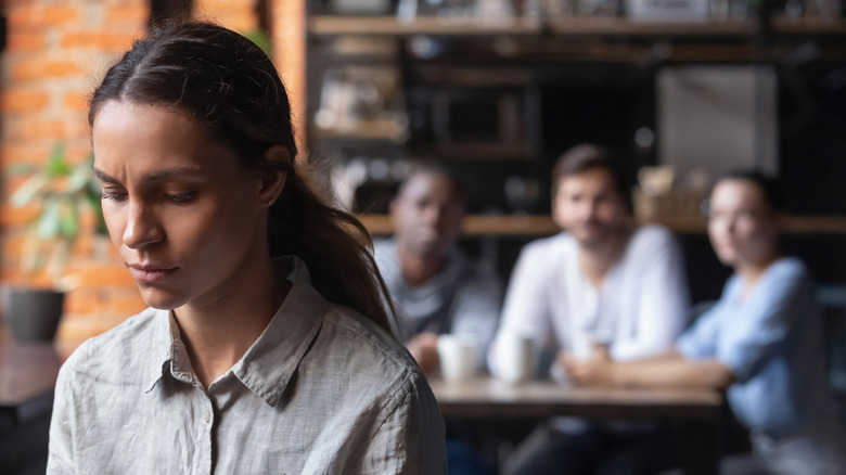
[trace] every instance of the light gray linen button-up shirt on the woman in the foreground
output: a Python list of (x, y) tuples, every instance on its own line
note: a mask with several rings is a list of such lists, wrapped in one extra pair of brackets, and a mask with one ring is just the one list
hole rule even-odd
[(47, 472), (445, 473), (444, 421), (413, 359), (290, 260), (284, 303), (208, 390), (167, 310), (82, 344), (59, 374)]

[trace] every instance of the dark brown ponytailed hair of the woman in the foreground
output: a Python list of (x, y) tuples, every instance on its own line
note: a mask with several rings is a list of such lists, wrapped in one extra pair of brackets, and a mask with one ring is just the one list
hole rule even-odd
[[(108, 101), (187, 112), (245, 167), (278, 167), (264, 158), (273, 145), (287, 149), (295, 163), (291, 105), (279, 73), (255, 43), (218, 25), (170, 24), (136, 40), (94, 90), (89, 125)], [(370, 235), (355, 217), (323, 203), (298, 168), (286, 168), (285, 188), (270, 207), (270, 257), (298, 256), (326, 298), (390, 331), (383, 306), (390, 299)]]

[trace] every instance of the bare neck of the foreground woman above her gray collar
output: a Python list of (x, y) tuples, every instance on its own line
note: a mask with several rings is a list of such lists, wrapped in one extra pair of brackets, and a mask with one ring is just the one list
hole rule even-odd
[(261, 335), (290, 285), (262, 259), (210, 301), (174, 310), (191, 365), (204, 387), (229, 371)]

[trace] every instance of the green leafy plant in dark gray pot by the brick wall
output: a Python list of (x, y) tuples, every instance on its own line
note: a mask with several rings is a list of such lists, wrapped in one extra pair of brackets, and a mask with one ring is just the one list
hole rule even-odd
[(2, 313), (18, 342), (52, 341), (62, 317), (64, 295), (73, 286), (65, 274), (70, 249), (84, 231), (85, 208), (93, 210), (97, 231), (105, 223), (100, 204), (100, 190), (91, 165), (93, 156), (70, 163), (64, 144), (53, 147), (44, 166), (15, 165), (12, 174), (28, 178), (10, 197), (13, 207), (38, 205), (21, 255), (22, 269), (28, 275), (44, 272), (52, 287), (31, 285), (4, 286)]

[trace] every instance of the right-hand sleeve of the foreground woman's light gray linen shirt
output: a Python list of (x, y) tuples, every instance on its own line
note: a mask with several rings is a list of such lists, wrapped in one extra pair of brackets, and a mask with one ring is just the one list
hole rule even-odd
[(445, 474), (445, 440), (435, 396), (425, 377), (418, 375), (371, 439), (358, 473)]

